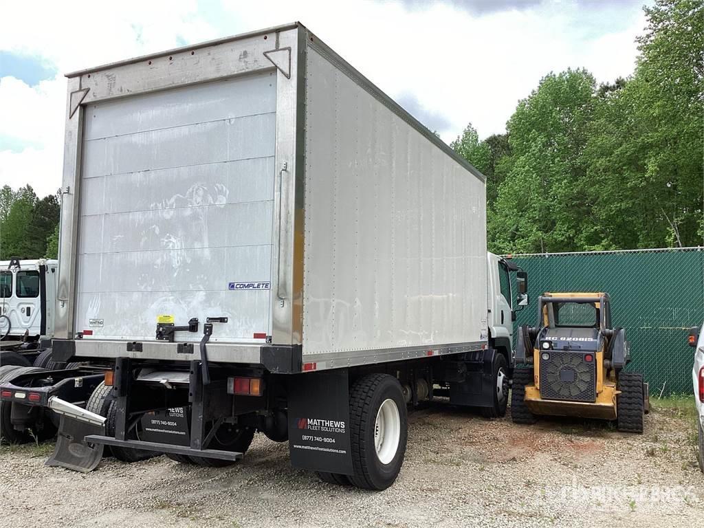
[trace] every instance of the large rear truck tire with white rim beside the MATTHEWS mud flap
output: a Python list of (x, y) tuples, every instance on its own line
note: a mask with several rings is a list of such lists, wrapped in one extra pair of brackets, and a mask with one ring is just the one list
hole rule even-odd
[(353, 384), (350, 436), (354, 471), (350, 482), (379, 491), (394, 484), (408, 440), (408, 411), (398, 379), (370, 374)]

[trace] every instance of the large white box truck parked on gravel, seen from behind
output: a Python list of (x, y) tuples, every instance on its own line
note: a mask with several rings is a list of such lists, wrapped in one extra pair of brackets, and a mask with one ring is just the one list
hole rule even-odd
[(483, 175), (306, 27), (68, 84), (54, 359), (114, 368), (86, 409), (49, 398), (51, 463), (226, 465), (259, 431), (384, 489), (407, 404), (505, 412), (510, 263), (489, 256), (488, 289)]

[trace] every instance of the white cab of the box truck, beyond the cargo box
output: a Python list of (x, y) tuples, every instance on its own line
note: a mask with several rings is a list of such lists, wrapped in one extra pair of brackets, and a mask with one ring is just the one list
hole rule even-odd
[[(509, 370), (513, 369), (513, 322), (516, 312), (528, 304), (527, 273), (513, 263), (494, 253), (486, 254), (486, 279), (489, 298), (488, 329), (489, 344), (506, 358)], [(511, 286), (511, 275), (515, 273), (517, 291)]]

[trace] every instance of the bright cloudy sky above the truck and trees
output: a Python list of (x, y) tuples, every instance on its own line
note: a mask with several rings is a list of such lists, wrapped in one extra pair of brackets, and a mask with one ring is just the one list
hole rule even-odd
[(430, 130), (505, 131), (541, 77), (634, 70), (651, 0), (35, 0), (0, 7), (0, 185), (61, 187), (65, 73), (301, 21)]

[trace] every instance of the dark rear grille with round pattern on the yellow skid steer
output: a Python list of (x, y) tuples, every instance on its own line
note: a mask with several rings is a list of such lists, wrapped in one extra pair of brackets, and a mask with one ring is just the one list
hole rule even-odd
[[(548, 358), (543, 356), (547, 354)], [(550, 351), (541, 354), (540, 396), (546, 400), (596, 401), (594, 353)], [(587, 361), (585, 356), (591, 356)]]

